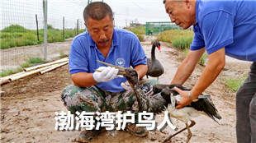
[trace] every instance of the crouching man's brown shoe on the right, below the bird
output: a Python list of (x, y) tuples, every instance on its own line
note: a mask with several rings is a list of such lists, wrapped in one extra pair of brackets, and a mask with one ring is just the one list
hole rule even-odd
[(125, 131), (130, 132), (130, 134), (138, 136), (138, 137), (144, 137), (149, 134), (149, 131), (145, 129), (145, 127), (136, 127), (134, 123), (128, 123), (126, 125)]

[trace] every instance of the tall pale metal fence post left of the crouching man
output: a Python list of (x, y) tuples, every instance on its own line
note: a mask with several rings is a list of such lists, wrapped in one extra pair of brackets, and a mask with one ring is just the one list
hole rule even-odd
[(44, 60), (47, 61), (47, 0), (43, 0), (43, 7), (44, 7), (44, 47), (45, 47), (45, 53), (44, 53)]

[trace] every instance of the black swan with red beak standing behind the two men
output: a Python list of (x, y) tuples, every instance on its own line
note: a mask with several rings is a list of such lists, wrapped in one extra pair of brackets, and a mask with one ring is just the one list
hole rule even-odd
[(154, 41), (154, 43), (152, 44), (152, 48), (151, 48), (151, 58), (147, 58), (147, 65), (148, 65), (148, 71), (146, 73), (147, 78), (149, 78), (149, 76), (152, 77), (157, 77), (157, 79), (159, 80), (159, 76), (161, 76), (164, 73), (164, 67), (162, 66), (162, 64), (159, 62), (158, 59), (155, 58), (155, 48), (159, 48), (159, 51), (161, 50), (160, 48), (161, 44), (159, 41)]

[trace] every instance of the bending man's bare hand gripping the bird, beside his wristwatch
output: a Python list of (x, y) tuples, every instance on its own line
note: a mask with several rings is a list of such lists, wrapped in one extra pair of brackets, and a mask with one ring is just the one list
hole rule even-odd
[(177, 101), (178, 106), (176, 106), (175, 108), (183, 108), (184, 106), (187, 106), (192, 102), (192, 100), (188, 97), (188, 91), (180, 90), (177, 87), (174, 87), (174, 90), (176, 90), (178, 94), (181, 95), (181, 100), (179, 102)]

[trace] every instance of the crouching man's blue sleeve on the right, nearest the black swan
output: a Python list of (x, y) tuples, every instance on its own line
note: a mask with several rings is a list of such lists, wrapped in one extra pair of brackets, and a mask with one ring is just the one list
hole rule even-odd
[(145, 55), (145, 51), (143, 50), (140, 40), (135, 36), (132, 40), (132, 48), (131, 48), (131, 66), (136, 67), (138, 65), (146, 65), (147, 57)]

